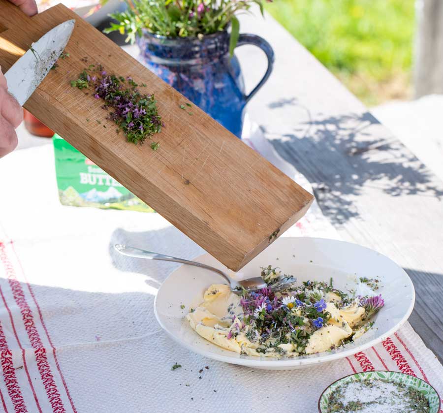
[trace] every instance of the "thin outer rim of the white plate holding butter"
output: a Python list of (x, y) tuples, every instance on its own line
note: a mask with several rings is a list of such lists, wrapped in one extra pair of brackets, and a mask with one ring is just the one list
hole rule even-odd
[[(402, 266), (397, 264), (394, 260), (392, 260), (388, 256), (386, 256), (384, 254), (381, 254), (381, 253), (379, 253), (379, 252), (377, 252), (377, 251), (375, 251), (375, 250), (373, 250), (371, 248), (367, 248), (367, 247), (364, 247), (364, 246), (356, 244), (356, 243), (352, 243), (352, 242), (348, 242), (348, 241), (342, 241), (342, 240), (336, 240), (336, 239), (332, 239), (332, 238), (322, 238), (322, 237), (284, 237), (283, 236), (281, 238), (278, 238), (276, 241), (278, 241), (280, 239), (284, 239), (284, 238), (286, 238), (286, 239), (287, 238), (291, 238), (291, 239), (309, 239), (309, 240), (320, 241), (320, 242), (333, 242), (333, 243), (340, 243), (340, 244), (348, 244), (348, 245), (351, 245), (353, 247), (358, 247), (358, 248), (362, 248), (362, 249), (368, 250), (371, 253), (379, 254), (379, 255), (389, 259), (390, 261), (392, 261), (395, 265), (397, 265), (406, 274), (406, 276), (408, 277), (409, 283), (411, 285), (411, 288), (412, 288), (411, 303), (410, 303), (409, 308), (406, 311), (405, 315), (403, 316), (403, 318), (396, 325), (394, 325), (391, 329), (389, 329), (384, 334), (381, 334), (377, 338), (374, 338), (373, 340), (370, 340), (367, 343), (361, 344), (361, 345), (359, 345), (358, 347), (356, 347), (354, 349), (346, 349), (344, 351), (341, 351), (341, 352), (335, 353), (335, 354), (327, 354), (327, 355), (319, 356), (318, 358), (302, 358), (302, 359), (297, 359), (297, 357), (294, 357), (294, 358), (277, 359), (277, 360), (265, 360), (263, 358), (257, 358), (256, 360), (254, 360), (254, 359), (250, 359), (250, 358), (240, 358), (240, 357), (239, 358), (230, 358), (229, 356), (213, 353), (210, 350), (206, 350), (205, 351), (205, 350), (201, 350), (201, 349), (195, 348), (195, 347), (189, 345), (188, 343), (185, 343), (185, 342), (179, 340), (178, 337), (176, 337), (174, 334), (170, 333), (166, 329), (166, 327), (163, 325), (163, 323), (161, 322), (161, 319), (158, 316), (158, 312), (157, 312), (158, 293), (159, 293), (161, 287), (164, 285), (164, 283), (169, 279), (169, 277), (171, 277), (183, 265), (186, 265), (186, 264), (182, 264), (179, 267), (177, 267), (176, 269), (174, 269), (165, 278), (165, 280), (163, 281), (163, 283), (161, 283), (161, 286), (158, 288), (158, 291), (156, 293), (156, 297), (154, 299), (154, 314), (155, 314), (155, 317), (156, 317), (157, 322), (160, 325), (160, 327), (176, 343), (180, 344), (181, 346), (185, 347), (186, 349), (189, 349), (193, 353), (197, 353), (199, 355), (211, 358), (213, 360), (218, 360), (218, 361), (222, 361), (222, 362), (225, 362), (225, 363), (236, 364), (236, 365), (241, 365), (241, 366), (246, 366), (246, 367), (256, 367), (256, 368), (261, 367), (261, 368), (265, 368), (265, 369), (276, 369), (276, 368), (287, 369), (287, 368), (291, 368), (291, 367), (304, 367), (304, 366), (308, 367), (308, 366), (313, 366), (313, 365), (316, 365), (316, 364), (327, 363), (327, 362), (335, 361), (335, 360), (338, 360), (338, 359), (341, 359), (341, 358), (345, 358), (345, 357), (348, 357), (348, 356), (353, 355), (355, 353), (358, 353), (360, 351), (364, 351), (366, 349), (369, 349), (370, 347), (373, 347), (373, 346), (379, 344), (384, 339), (386, 339), (387, 337), (389, 337), (390, 335), (395, 333), (400, 327), (403, 326), (403, 324), (405, 324), (405, 322), (411, 316), (412, 310), (413, 310), (414, 305), (415, 305), (415, 288), (413, 286), (411, 277), (408, 275), (408, 273), (404, 270), (404, 268)], [(193, 260), (200, 262), (200, 260), (203, 257), (208, 256), (208, 255), (211, 256), (211, 254), (209, 254), (209, 253), (200, 254), (196, 258), (193, 258)], [(195, 333), (195, 334), (197, 334), (197, 333)], [(210, 343), (210, 344), (212, 344), (212, 343)], [(213, 344), (213, 345), (215, 346), (215, 344)], [(229, 350), (227, 350), (227, 351), (229, 351)], [(251, 357), (253, 357), (253, 356), (251, 356)], [(326, 359), (324, 359), (324, 357)]]

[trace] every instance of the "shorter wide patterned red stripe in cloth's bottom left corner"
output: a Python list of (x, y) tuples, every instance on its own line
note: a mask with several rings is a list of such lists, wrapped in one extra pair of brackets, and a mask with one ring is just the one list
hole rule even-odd
[[(15, 413), (28, 413), (25, 401), (23, 400), (22, 391), (15, 375), (14, 364), (12, 362), (12, 352), (8, 348), (6, 337), (4, 336), (3, 327), (0, 323), (0, 362), (3, 370), (4, 383), (14, 406)], [(3, 396), (1, 396), (3, 397)], [(4, 402), (3, 402), (3, 406)]]

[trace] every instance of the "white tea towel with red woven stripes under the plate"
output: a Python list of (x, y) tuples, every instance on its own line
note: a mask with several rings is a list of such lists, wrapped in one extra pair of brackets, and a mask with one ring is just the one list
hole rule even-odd
[[(308, 187), (255, 132), (255, 149)], [(202, 253), (196, 244), (157, 214), (60, 205), (51, 146), (1, 159), (0, 176), (0, 412), (311, 413), (332, 381), (373, 369), (415, 375), (443, 393), (443, 367), (408, 323), (371, 349), (303, 370), (195, 355), (153, 314), (176, 264), (128, 259), (112, 245), (192, 258)], [(337, 237), (316, 205), (288, 234)], [(175, 363), (182, 367), (171, 370)]]

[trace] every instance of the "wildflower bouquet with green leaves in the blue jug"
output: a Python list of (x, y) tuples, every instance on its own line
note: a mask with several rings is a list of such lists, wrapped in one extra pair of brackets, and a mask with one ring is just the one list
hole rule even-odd
[[(102, 0), (105, 3), (107, 0)], [(263, 0), (125, 0), (127, 10), (111, 14), (117, 21), (105, 33), (119, 31), (133, 43), (142, 31), (167, 37), (201, 37), (231, 25), (229, 50), (237, 44), (240, 24), (235, 14), (255, 3), (263, 15)], [(266, 0), (272, 1), (272, 0)]]

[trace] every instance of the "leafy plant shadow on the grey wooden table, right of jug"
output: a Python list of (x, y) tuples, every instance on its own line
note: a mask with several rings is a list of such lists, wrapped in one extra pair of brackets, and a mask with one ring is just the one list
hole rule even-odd
[[(299, 105), (285, 99), (271, 109)], [(271, 143), (313, 185), (321, 209), (342, 224), (359, 213), (352, 196), (375, 188), (392, 196), (421, 194), (443, 198), (443, 184), (370, 113), (313, 118), (293, 133), (277, 135)], [(275, 135), (264, 129), (265, 133)], [(380, 136), (375, 138), (375, 136)]]

